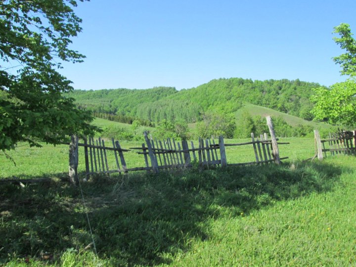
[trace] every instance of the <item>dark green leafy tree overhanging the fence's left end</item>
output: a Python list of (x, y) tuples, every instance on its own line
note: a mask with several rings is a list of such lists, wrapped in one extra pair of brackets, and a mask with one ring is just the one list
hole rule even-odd
[(82, 29), (75, 0), (0, 1), (0, 149), (19, 141), (57, 144), (69, 134), (91, 134), (91, 115), (63, 96), (73, 88), (57, 70), (81, 62), (69, 48)]

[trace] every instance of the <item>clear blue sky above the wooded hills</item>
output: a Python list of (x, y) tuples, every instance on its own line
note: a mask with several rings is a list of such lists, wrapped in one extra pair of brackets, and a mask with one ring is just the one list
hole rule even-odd
[(91, 0), (79, 2), (84, 63), (75, 89), (197, 87), (213, 79), (344, 81), (333, 27), (356, 34), (356, 0)]

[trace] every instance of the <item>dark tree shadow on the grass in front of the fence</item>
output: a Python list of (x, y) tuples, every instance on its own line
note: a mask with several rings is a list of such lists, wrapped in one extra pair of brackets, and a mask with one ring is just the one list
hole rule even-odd
[[(318, 162), (192, 168), (97, 176), (82, 188), (99, 258), (114, 266), (155, 265), (169, 264), (167, 255), (188, 250), (192, 239), (209, 238), (209, 219), (332, 190), (346, 171)], [(66, 249), (85, 251), (91, 243), (85, 211), (80, 189), (64, 182), (1, 186), (2, 262), (41, 252), (58, 260)]]

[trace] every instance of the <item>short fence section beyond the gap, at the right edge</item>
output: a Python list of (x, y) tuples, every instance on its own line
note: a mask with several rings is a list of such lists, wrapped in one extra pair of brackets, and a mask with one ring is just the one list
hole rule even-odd
[[(329, 138), (321, 139), (318, 130), (314, 131), (315, 155), (319, 160), (330, 154), (335, 155), (355, 155), (356, 154), (356, 131), (339, 131), (329, 133)], [(329, 152), (329, 153), (327, 153)]]

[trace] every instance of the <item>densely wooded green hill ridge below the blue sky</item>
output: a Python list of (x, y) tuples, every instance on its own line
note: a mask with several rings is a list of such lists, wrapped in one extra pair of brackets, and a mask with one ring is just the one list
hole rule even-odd
[(196, 88), (158, 87), (144, 90), (74, 90), (70, 94), (78, 105), (96, 112), (116, 113), (150, 121), (184, 120), (195, 122), (206, 111), (233, 113), (242, 102), (272, 108), (311, 120), (309, 98), (317, 83), (298, 79), (252, 81), (230, 78), (212, 80)]

